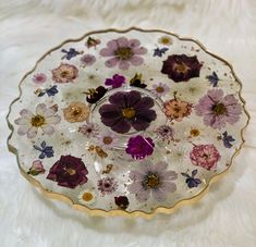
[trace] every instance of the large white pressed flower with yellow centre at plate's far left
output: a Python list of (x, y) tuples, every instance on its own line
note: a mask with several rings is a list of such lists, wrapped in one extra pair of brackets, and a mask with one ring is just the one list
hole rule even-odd
[(54, 132), (53, 124), (58, 124), (61, 118), (56, 114), (58, 109), (51, 107), (47, 108), (45, 103), (39, 103), (36, 107), (36, 114), (29, 110), (23, 109), (20, 114), (21, 118), (14, 121), (20, 125), (17, 128), (19, 135), (27, 135), (27, 138), (34, 138), (37, 135), (38, 128), (41, 128), (44, 134), (52, 135)]

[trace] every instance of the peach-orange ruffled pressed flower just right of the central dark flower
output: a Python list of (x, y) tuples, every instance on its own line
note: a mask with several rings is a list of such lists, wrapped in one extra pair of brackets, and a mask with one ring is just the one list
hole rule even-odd
[(180, 99), (171, 99), (163, 103), (163, 112), (170, 120), (180, 122), (191, 114), (192, 104)]

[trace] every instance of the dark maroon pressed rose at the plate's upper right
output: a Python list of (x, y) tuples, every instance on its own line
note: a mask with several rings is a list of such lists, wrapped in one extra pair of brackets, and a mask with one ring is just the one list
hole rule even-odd
[(172, 54), (163, 61), (161, 73), (167, 74), (175, 83), (187, 82), (193, 77), (199, 77), (202, 66), (196, 55)]

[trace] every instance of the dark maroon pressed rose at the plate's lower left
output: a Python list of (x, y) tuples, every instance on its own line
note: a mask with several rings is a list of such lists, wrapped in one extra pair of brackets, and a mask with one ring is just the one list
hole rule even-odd
[(75, 188), (87, 182), (88, 171), (82, 159), (73, 156), (61, 156), (50, 169), (48, 180), (58, 182), (58, 185)]

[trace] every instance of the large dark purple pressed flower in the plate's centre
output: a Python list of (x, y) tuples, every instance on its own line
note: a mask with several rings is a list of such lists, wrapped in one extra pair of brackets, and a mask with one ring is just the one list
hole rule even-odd
[(157, 118), (150, 109), (154, 100), (142, 97), (138, 91), (119, 91), (109, 97), (109, 102), (99, 109), (101, 122), (118, 133), (127, 133), (133, 126), (136, 131), (144, 131)]

